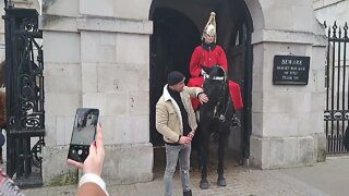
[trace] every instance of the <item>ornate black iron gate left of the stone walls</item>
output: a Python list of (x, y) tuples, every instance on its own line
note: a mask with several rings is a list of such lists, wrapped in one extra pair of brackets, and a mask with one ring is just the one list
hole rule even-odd
[[(20, 186), (43, 184), (44, 59), (34, 9), (5, 1), (7, 173)], [(34, 144), (34, 145), (32, 145)]]

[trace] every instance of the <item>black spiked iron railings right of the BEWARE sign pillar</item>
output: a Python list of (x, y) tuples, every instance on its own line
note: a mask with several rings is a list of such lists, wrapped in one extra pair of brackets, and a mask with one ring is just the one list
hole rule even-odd
[(327, 154), (342, 154), (342, 136), (349, 122), (349, 52), (348, 24), (327, 26), (325, 68), (326, 108), (324, 112)]

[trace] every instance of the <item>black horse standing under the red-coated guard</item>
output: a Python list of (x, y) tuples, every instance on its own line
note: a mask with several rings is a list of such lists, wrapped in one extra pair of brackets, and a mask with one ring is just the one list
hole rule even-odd
[(209, 101), (200, 107), (198, 138), (200, 138), (200, 158), (201, 158), (201, 182), (200, 187), (207, 189), (207, 158), (208, 142), (212, 135), (218, 138), (218, 186), (226, 186), (224, 177), (224, 158), (225, 146), (230, 133), (231, 126), (238, 125), (236, 110), (229, 90), (229, 81), (226, 71), (215, 65), (210, 69), (204, 68), (208, 73), (203, 84), (204, 93), (208, 96)]

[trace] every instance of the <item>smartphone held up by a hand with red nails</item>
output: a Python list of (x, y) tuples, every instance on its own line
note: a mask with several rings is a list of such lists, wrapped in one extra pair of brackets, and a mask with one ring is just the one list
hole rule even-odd
[(99, 110), (95, 108), (77, 108), (68, 158), (84, 162), (88, 156), (89, 146), (95, 140)]

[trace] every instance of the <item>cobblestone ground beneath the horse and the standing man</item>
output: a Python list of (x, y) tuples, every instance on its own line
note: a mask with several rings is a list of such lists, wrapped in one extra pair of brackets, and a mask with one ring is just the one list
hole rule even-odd
[[(191, 181), (193, 183), (193, 195), (209, 196), (322, 196), (328, 195), (321, 191), (311, 187), (296, 179), (292, 179), (278, 170), (256, 170), (245, 167), (229, 167), (226, 169), (226, 187), (216, 185), (216, 174), (210, 171), (208, 181), (210, 186), (208, 189), (200, 189), (200, 173), (192, 171)], [(174, 174), (174, 195), (182, 195), (180, 188), (179, 174)], [(109, 194), (122, 196), (140, 196), (152, 195), (160, 196), (164, 193), (161, 174), (155, 174), (155, 180), (148, 183), (139, 183), (132, 185), (107, 186)], [(60, 186), (60, 187), (43, 187), (25, 189), (24, 193), (28, 196), (47, 196), (47, 195), (74, 195), (76, 186)]]

